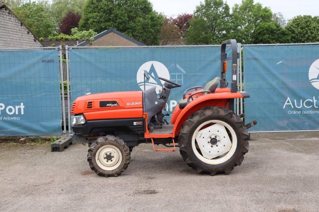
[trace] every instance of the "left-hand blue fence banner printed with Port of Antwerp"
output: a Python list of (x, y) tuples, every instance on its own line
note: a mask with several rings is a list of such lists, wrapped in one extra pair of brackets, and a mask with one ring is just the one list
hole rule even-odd
[(60, 135), (57, 49), (0, 50), (0, 136)]

